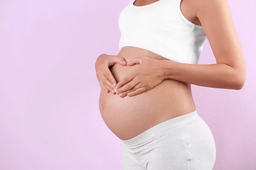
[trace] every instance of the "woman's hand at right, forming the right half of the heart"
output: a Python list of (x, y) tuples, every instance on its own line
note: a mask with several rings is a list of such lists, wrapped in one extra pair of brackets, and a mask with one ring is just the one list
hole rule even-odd
[(148, 57), (131, 59), (131, 61), (127, 62), (128, 66), (140, 64), (140, 67), (119, 81), (113, 90), (120, 97), (124, 97), (126, 95), (135, 96), (154, 88), (164, 79), (161, 63), (158, 59)]

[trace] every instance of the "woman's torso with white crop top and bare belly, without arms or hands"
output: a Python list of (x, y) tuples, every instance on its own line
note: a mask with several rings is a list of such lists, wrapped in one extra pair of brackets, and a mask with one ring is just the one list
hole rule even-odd
[[(146, 56), (197, 64), (207, 37), (201, 26), (186, 20), (180, 11), (180, 2), (160, 0), (140, 7), (130, 3), (124, 8), (119, 15), (121, 37), (117, 56), (126, 61)], [(139, 66), (115, 64), (110, 70), (119, 82)], [(190, 84), (165, 79), (156, 87), (131, 97), (101, 90), (99, 110), (109, 129), (120, 139), (127, 140), (196, 108)]]

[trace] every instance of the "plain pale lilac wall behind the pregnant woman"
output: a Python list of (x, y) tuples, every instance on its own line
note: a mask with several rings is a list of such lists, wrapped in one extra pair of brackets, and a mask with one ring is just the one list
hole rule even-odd
[[(0, 1), (0, 170), (120, 170), (94, 63), (117, 54), (130, 0)], [(192, 86), (215, 137), (215, 170), (256, 169), (255, 0), (229, 0), (247, 64), (240, 91)], [(209, 42), (200, 63), (214, 63)]]

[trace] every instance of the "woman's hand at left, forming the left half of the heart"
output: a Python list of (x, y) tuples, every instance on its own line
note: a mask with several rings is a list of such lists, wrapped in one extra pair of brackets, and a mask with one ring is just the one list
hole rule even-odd
[(109, 69), (110, 66), (116, 63), (123, 66), (127, 64), (124, 58), (107, 54), (100, 55), (95, 62), (96, 76), (99, 81), (99, 85), (107, 93), (111, 91), (112, 94), (116, 94), (116, 92), (113, 91), (113, 88), (116, 85), (116, 80)]

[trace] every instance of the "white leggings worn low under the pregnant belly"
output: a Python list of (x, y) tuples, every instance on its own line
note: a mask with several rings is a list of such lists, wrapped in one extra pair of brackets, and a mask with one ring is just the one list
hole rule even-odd
[(121, 141), (122, 170), (212, 170), (216, 159), (212, 132), (197, 111)]

